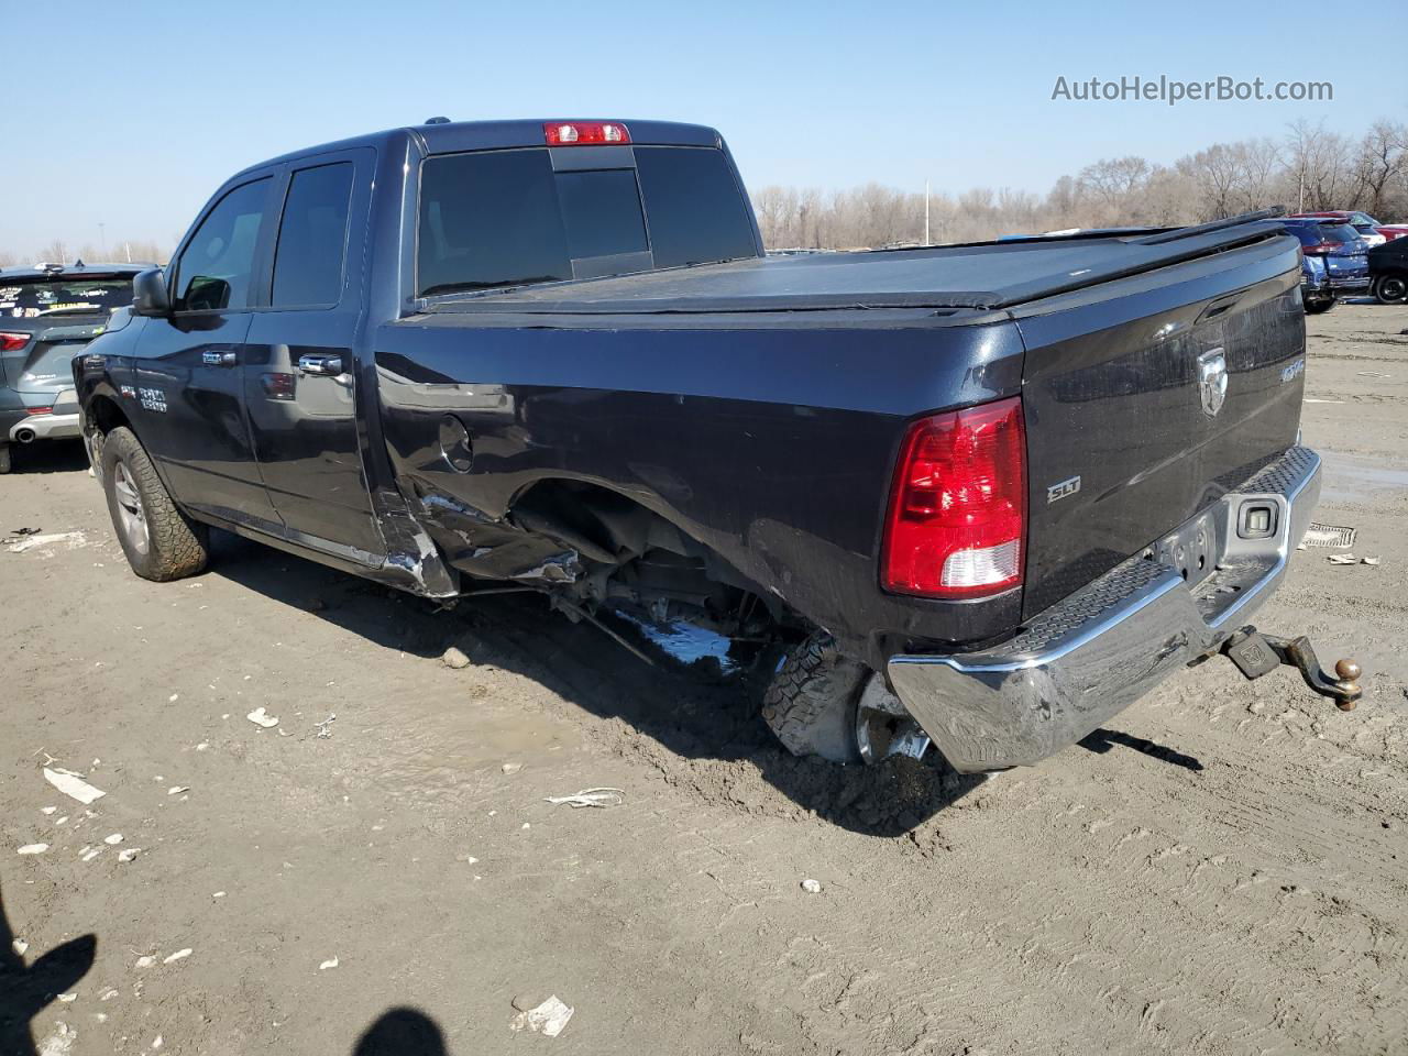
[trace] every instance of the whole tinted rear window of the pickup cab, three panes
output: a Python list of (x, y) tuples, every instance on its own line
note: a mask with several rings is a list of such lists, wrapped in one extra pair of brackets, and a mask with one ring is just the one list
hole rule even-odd
[(555, 172), (545, 148), (428, 158), (417, 293), (560, 282), (756, 256), (722, 151), (636, 146)]

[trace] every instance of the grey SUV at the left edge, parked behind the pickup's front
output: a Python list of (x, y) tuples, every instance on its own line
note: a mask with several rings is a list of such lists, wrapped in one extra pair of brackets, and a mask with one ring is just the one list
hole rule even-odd
[(132, 276), (148, 266), (0, 270), (0, 473), (13, 444), (80, 435), (70, 360), (132, 303)]

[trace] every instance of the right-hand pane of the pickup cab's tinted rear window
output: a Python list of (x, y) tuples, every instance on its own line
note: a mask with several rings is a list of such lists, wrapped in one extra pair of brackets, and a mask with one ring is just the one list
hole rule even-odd
[(758, 256), (743, 193), (722, 151), (638, 146), (656, 268)]

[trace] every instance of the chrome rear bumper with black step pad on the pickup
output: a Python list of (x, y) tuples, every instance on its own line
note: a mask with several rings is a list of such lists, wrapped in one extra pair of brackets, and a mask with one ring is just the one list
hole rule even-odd
[[(955, 769), (1036, 763), (1221, 648), (1280, 584), (1319, 484), (1319, 456), (1291, 448), (1170, 536), (1170, 562), (1190, 529), (1208, 538), (1211, 574), (1186, 580), (1174, 563), (1133, 558), (1000, 646), (893, 656), (890, 684)], [(1253, 508), (1274, 510), (1270, 535), (1243, 538)]]

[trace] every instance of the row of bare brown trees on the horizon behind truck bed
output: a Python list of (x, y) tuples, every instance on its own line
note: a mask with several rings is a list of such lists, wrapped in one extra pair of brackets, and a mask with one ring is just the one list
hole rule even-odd
[[(842, 249), (924, 241), (925, 196), (879, 183), (824, 193), (753, 194), (770, 248)], [(1073, 227), (1197, 224), (1266, 206), (1359, 208), (1408, 221), (1408, 124), (1377, 121), (1359, 138), (1298, 121), (1281, 139), (1214, 144), (1171, 165), (1105, 158), (1045, 196), (976, 187), (929, 196), (929, 241), (974, 242)]]

